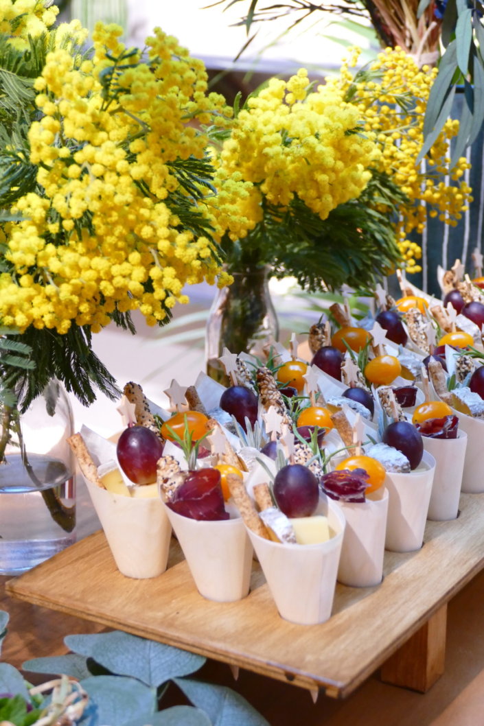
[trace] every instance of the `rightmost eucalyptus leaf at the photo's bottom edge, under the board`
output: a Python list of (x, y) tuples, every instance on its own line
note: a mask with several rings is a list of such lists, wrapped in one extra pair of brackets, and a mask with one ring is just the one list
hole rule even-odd
[(214, 726), (270, 726), (245, 698), (230, 688), (187, 678), (176, 678), (175, 682), (194, 706), (206, 711)]

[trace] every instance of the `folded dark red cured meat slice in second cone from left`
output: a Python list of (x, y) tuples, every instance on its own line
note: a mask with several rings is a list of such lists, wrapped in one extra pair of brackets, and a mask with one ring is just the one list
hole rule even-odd
[(206, 468), (189, 471), (167, 506), (177, 514), (199, 521), (228, 519), (219, 470)]

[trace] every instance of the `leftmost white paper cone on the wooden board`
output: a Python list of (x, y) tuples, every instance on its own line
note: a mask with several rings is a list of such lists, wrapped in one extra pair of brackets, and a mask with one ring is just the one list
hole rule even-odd
[(124, 497), (87, 480), (86, 486), (118, 570), (137, 579), (161, 575), (172, 536), (161, 499)]

